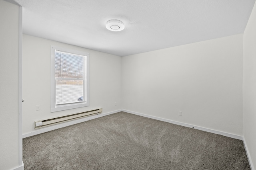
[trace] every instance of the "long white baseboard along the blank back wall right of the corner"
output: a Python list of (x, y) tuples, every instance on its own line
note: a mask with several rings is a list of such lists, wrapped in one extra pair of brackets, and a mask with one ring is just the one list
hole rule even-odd
[(156, 119), (156, 120), (165, 121), (165, 122), (168, 122), (168, 123), (173, 123), (175, 125), (181, 125), (181, 126), (190, 127), (190, 128), (193, 128), (193, 129), (198, 129), (198, 130), (201, 130), (201, 131), (206, 131), (206, 132), (215, 133), (215, 134), (226, 136), (226, 137), (231, 137), (231, 138), (234, 138), (234, 139), (243, 140), (242, 136), (238, 136), (238, 135), (234, 135), (234, 134), (230, 134), (230, 133), (226, 133), (226, 132), (222, 132), (222, 131), (216, 131), (216, 130), (212, 130), (212, 129), (208, 129), (208, 128), (204, 128), (204, 127), (194, 126), (194, 125), (190, 125), (190, 124), (187, 124), (187, 123), (181, 123), (181, 122), (178, 122), (178, 121), (172, 121), (172, 120), (169, 120), (169, 119), (164, 119), (164, 118), (160, 118), (160, 117), (156, 117), (156, 116), (150, 116), (150, 115), (137, 113), (137, 112), (129, 111), (129, 110), (125, 110), (125, 109), (122, 109), (122, 111), (127, 112), (127, 113), (132, 113), (134, 115), (140, 115), (140, 116), (148, 117), (148, 118), (151, 118), (151, 119)]

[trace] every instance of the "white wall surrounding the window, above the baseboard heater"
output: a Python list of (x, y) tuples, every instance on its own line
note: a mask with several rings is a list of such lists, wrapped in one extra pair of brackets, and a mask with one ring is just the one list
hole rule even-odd
[[(90, 54), (90, 106), (50, 112), (51, 46)], [(41, 119), (97, 108), (103, 113), (121, 109), (121, 57), (30, 35), (23, 35), (22, 55), (23, 134), (37, 131), (34, 121)], [(41, 105), (40, 111), (36, 105)]]

